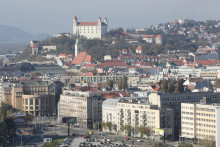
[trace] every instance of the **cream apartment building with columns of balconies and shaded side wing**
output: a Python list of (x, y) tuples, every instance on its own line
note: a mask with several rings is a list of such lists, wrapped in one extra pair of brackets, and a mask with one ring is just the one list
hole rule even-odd
[(123, 126), (130, 125), (134, 136), (137, 135), (135, 128), (145, 126), (151, 128), (152, 135), (155, 129), (174, 128), (174, 114), (172, 109), (160, 110), (157, 105), (148, 104), (140, 99), (122, 99), (117, 103), (117, 131), (124, 133)]

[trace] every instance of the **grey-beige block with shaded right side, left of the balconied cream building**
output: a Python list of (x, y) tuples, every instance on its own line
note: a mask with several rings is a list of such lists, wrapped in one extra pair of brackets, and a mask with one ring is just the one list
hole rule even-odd
[(100, 93), (65, 90), (60, 95), (59, 117), (76, 117), (82, 128), (93, 128), (94, 123), (102, 121), (102, 103), (105, 100)]

